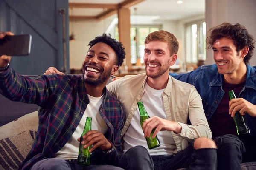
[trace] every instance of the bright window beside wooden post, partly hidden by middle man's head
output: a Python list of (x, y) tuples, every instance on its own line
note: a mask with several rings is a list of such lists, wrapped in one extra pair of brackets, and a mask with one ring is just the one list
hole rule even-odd
[[(140, 63), (144, 63), (144, 41), (148, 34), (154, 31), (161, 30), (161, 26), (141, 26), (132, 25), (130, 28), (130, 40), (131, 40), (131, 63), (135, 64), (137, 60)], [(116, 40), (118, 40), (118, 27), (116, 27)]]

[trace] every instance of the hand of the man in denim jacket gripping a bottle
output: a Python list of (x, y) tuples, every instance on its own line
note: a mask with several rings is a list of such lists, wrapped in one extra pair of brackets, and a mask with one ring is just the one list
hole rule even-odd
[(231, 117), (235, 116), (236, 111), (239, 111), (241, 115), (248, 113), (250, 116), (256, 116), (256, 105), (248, 102), (243, 98), (232, 99), (229, 102), (229, 114)]

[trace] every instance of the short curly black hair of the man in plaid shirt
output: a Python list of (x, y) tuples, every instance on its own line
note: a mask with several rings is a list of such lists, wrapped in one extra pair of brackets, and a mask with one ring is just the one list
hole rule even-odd
[(103, 33), (102, 36), (95, 37), (93, 40), (91, 40), (89, 42), (88, 46), (90, 46), (90, 48), (91, 48), (93, 45), (95, 45), (99, 42), (107, 44), (111, 48), (113, 48), (113, 50), (116, 53), (116, 65), (118, 65), (119, 67), (122, 66), (122, 63), (124, 62), (125, 55), (126, 55), (125, 48), (123, 47), (122, 43), (111, 38), (110, 34), (107, 35), (107, 34)]

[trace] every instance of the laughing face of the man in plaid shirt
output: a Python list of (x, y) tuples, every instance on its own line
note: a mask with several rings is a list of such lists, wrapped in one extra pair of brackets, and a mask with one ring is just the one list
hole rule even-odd
[(102, 42), (89, 49), (82, 65), (84, 82), (93, 86), (106, 83), (117, 70), (115, 51)]

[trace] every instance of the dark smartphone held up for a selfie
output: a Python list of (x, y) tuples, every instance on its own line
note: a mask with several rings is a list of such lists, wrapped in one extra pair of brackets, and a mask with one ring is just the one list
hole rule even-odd
[(26, 56), (30, 53), (32, 36), (29, 34), (6, 36), (0, 39), (0, 56)]

